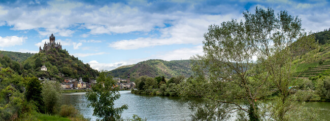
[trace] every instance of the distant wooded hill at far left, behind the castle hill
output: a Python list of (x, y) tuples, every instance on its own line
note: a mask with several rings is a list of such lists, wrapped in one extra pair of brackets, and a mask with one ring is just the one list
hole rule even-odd
[(4, 57), (7, 55), (13, 61), (22, 62), (30, 56), (33, 56), (34, 53), (22, 53), (22, 52), (13, 52), (13, 51), (1, 51), (0, 50), (0, 57)]

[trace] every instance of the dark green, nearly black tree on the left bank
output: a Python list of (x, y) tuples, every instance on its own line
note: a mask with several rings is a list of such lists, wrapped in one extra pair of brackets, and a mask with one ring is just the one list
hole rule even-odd
[(36, 101), (36, 106), (39, 112), (43, 112), (43, 97), (42, 97), (42, 85), (41, 82), (36, 77), (25, 78), (27, 84), (25, 87), (25, 99), (27, 101)]

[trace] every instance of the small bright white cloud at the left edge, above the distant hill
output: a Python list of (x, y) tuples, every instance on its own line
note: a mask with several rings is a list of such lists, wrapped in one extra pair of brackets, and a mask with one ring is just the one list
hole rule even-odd
[(18, 36), (1, 37), (0, 36), (0, 47), (10, 47), (10, 46), (14, 46), (14, 45), (21, 45), (23, 42), (25, 42), (25, 39), (27, 39), (27, 37), (18, 37)]

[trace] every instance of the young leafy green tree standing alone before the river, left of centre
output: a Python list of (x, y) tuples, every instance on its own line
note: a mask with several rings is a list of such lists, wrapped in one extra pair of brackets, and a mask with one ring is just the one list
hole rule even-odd
[(112, 77), (108, 77), (106, 72), (101, 72), (96, 79), (96, 83), (86, 93), (86, 98), (90, 102), (88, 107), (93, 107), (93, 115), (100, 117), (98, 120), (120, 119), (120, 114), (127, 105), (114, 107), (114, 101), (119, 99), (119, 87)]

